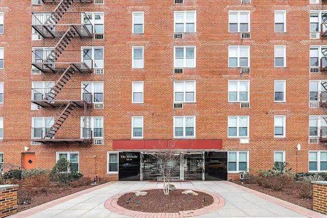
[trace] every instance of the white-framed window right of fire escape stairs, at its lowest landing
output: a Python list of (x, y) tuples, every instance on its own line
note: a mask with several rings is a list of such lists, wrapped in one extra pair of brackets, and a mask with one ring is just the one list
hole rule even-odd
[(103, 117), (81, 117), (81, 138), (103, 138)]

